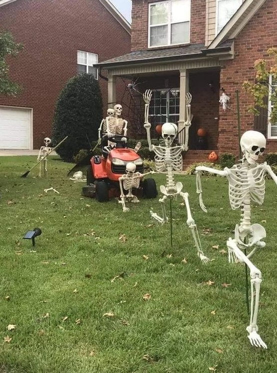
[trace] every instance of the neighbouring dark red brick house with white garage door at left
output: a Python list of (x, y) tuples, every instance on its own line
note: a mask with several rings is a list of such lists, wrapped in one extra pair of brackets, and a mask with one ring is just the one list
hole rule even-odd
[[(39, 148), (66, 81), (78, 72), (98, 79), (95, 63), (130, 51), (130, 25), (108, 0), (0, 0), (3, 30), (24, 47), (8, 60), (23, 91), (0, 96), (0, 149)], [(105, 111), (107, 82), (99, 84)]]

